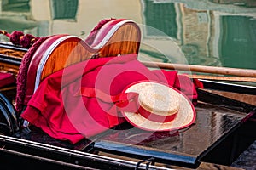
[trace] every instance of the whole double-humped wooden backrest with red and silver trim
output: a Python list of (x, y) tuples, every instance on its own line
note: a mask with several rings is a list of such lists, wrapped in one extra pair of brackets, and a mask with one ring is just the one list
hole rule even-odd
[(55, 71), (86, 59), (138, 54), (141, 32), (131, 20), (111, 20), (96, 34), (89, 46), (80, 37), (56, 35), (49, 37), (32, 56), (26, 79), (26, 105), (39, 83)]

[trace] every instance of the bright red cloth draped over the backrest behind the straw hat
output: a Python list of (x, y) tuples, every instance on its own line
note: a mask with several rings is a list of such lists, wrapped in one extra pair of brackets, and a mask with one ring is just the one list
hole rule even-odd
[(116, 113), (118, 122), (111, 122), (108, 111), (113, 103), (81, 96), (81, 88), (96, 88), (105, 94), (117, 95), (132, 82), (142, 80), (168, 83), (194, 102), (197, 99), (198, 83), (189, 77), (177, 75), (177, 71), (150, 71), (137, 60), (137, 54), (128, 54), (90, 59), (55, 72), (40, 83), (21, 117), (51, 137), (75, 144), (125, 122), (119, 113)]

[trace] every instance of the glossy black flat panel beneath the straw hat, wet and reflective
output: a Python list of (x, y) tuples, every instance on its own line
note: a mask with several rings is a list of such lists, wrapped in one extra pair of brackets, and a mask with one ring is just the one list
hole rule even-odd
[(199, 103), (195, 110), (195, 124), (187, 129), (165, 133), (146, 132), (134, 127), (115, 130), (98, 140), (95, 147), (195, 164), (200, 161), (201, 156), (206, 155), (228, 137), (229, 133), (236, 130), (248, 116), (244, 112), (203, 103)]

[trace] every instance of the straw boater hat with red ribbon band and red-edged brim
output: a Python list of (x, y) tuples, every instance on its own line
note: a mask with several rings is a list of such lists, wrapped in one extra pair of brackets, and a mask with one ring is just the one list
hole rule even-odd
[(133, 126), (149, 131), (172, 131), (195, 122), (195, 108), (185, 95), (160, 82), (135, 82), (123, 93), (137, 93), (137, 112), (122, 111)]

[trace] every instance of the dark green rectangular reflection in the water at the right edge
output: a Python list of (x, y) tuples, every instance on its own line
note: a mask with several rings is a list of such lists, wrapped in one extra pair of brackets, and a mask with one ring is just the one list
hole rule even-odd
[(225, 66), (256, 68), (256, 20), (245, 16), (221, 19), (220, 60)]

